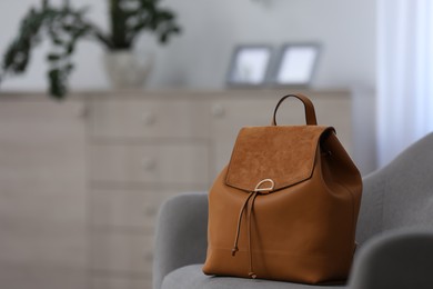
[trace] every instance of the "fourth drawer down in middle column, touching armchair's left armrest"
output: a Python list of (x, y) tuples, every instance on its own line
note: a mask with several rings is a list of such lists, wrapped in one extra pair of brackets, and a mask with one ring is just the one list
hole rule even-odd
[(90, 269), (94, 275), (151, 276), (153, 235), (93, 230), (90, 238)]

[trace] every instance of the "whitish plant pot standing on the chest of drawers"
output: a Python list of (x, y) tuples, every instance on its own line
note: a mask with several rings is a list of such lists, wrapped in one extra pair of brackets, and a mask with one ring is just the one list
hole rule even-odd
[(114, 89), (139, 89), (149, 78), (153, 54), (132, 51), (109, 51), (103, 57), (105, 72)]

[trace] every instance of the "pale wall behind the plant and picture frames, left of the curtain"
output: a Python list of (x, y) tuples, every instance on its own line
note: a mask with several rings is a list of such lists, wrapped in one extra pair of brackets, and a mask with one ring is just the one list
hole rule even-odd
[[(91, 6), (93, 21), (107, 27), (107, 0), (72, 0)], [(0, 1), (0, 54), (16, 34), (30, 4), (39, 0)], [(51, 0), (57, 3), (61, 0)], [(149, 88), (182, 87), (218, 89), (234, 46), (319, 41), (323, 46), (314, 86), (375, 87), (375, 0), (165, 0), (175, 9), (184, 32), (160, 48), (143, 36), (137, 50), (153, 49), (157, 67)], [(9, 78), (0, 89), (46, 89), (44, 51), (39, 48), (23, 77)], [(82, 42), (75, 54), (73, 89), (104, 89), (103, 48)]]

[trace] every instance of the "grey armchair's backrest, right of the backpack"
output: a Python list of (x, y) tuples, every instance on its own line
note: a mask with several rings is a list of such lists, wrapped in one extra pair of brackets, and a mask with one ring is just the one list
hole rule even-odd
[(356, 240), (403, 227), (433, 228), (433, 133), (366, 176)]

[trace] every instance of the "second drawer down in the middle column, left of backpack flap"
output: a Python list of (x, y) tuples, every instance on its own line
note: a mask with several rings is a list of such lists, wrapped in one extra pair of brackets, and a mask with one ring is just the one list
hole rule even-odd
[(205, 144), (91, 144), (92, 181), (209, 183)]

